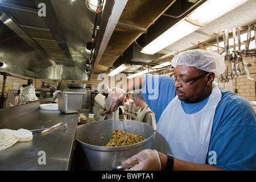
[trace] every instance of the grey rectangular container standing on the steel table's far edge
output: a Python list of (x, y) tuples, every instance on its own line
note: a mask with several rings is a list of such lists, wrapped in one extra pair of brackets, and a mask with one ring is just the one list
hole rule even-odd
[(84, 94), (79, 92), (60, 92), (58, 94), (59, 111), (65, 114), (79, 113)]

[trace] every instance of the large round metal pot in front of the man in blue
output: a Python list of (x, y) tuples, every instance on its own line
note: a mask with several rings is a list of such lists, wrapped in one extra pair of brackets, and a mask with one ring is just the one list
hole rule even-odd
[[(104, 147), (114, 129), (125, 133), (141, 134), (145, 140), (129, 146)], [(138, 152), (153, 148), (154, 129), (147, 123), (115, 119), (88, 123), (77, 129), (75, 169), (110, 171), (114, 166), (120, 166), (123, 159), (128, 159)]]

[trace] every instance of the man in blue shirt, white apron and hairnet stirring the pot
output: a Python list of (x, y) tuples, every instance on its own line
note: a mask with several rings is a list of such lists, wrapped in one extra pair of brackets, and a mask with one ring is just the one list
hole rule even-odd
[[(158, 122), (155, 150), (125, 163), (138, 163), (131, 170), (255, 170), (255, 111), (214, 82), (225, 71), (224, 57), (191, 50), (175, 56), (172, 66), (174, 78), (146, 75), (136, 82)], [(128, 85), (122, 89), (131, 89)], [(112, 109), (123, 95), (112, 94)]]

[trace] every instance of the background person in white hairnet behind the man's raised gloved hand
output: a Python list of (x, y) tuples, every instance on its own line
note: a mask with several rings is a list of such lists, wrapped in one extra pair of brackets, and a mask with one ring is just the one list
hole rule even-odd
[(119, 119), (119, 107), (117, 110), (115, 111), (111, 111), (110, 107), (109, 107), (109, 99), (108, 99), (108, 95), (110, 92), (109, 86), (106, 84), (103, 84), (100, 86), (100, 93), (105, 96), (105, 109), (103, 112), (100, 113), (100, 115), (102, 117), (104, 117), (106, 115), (105, 119)]

